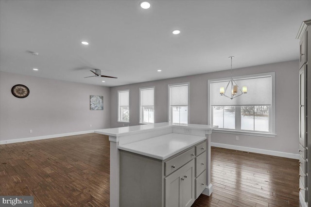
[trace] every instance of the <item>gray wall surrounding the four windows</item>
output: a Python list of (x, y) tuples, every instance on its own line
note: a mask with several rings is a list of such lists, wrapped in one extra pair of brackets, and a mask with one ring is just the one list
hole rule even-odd
[[(266, 64), (235, 69), (234, 76), (275, 72), (276, 73), (276, 137), (258, 137), (235, 134), (213, 133), (213, 143), (224, 143), (244, 147), (297, 154), (298, 149), (298, 61)], [(138, 125), (138, 93), (140, 87), (155, 86), (155, 123), (168, 121), (168, 84), (190, 82), (190, 124), (207, 124), (207, 80), (229, 77), (229, 71), (157, 80), (138, 84), (112, 87), (110, 89), (110, 125), (117, 123), (118, 90), (130, 89), (130, 126)], [(203, 112), (202, 112), (203, 111)]]

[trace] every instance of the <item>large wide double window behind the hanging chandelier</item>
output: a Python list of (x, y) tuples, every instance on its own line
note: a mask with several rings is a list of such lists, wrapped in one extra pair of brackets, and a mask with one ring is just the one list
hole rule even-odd
[(209, 124), (217, 125), (216, 130), (222, 132), (274, 136), (275, 73), (235, 77), (234, 80), (239, 87), (247, 86), (248, 93), (234, 99), (220, 96), (219, 89), (228, 79), (208, 80)]

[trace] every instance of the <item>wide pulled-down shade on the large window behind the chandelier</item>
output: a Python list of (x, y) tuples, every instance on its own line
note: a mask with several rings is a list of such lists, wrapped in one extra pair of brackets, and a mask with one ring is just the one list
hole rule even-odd
[[(241, 90), (242, 86), (247, 87), (247, 94), (233, 99), (220, 96), (219, 93), (220, 87), (226, 87), (228, 81), (229, 80), (210, 83), (211, 106), (271, 105), (271, 76), (235, 80)], [(230, 87), (230, 85), (228, 87)]]

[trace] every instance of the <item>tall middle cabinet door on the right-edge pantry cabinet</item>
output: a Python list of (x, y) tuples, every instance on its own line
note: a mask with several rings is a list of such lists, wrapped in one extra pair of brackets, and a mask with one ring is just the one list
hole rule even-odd
[(307, 65), (299, 70), (299, 142), (303, 147), (307, 147), (306, 136), (306, 96), (307, 96)]

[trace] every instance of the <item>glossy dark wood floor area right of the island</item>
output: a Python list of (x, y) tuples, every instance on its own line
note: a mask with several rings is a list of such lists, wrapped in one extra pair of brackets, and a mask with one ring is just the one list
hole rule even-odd
[(211, 183), (192, 207), (299, 207), (297, 159), (212, 147)]

